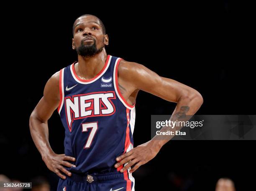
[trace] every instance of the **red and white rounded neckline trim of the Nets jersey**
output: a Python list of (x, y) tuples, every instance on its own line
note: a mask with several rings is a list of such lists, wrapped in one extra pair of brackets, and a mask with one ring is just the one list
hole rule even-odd
[(96, 76), (94, 76), (92, 79), (88, 79), (88, 80), (87, 80), (87, 79), (81, 79), (81, 78), (79, 78), (79, 76), (77, 75), (77, 72), (76, 72), (75, 69), (74, 69), (74, 64), (76, 64), (77, 62), (74, 62), (74, 63), (71, 65), (70, 70), (71, 70), (72, 76), (74, 77), (74, 79), (75, 79), (77, 82), (79, 82), (79, 83), (81, 83), (81, 84), (90, 84), (90, 83), (96, 81), (97, 79), (99, 79), (100, 76), (102, 76), (102, 75), (105, 73), (105, 71), (108, 69), (108, 66), (109, 66), (109, 64), (110, 64), (110, 60), (111, 60), (110, 55), (108, 55), (108, 56), (107, 56), (107, 59), (106, 59), (106, 61), (105, 61), (105, 64), (104, 64), (104, 66), (103, 66), (103, 68), (102, 68), (102, 69), (100, 70), (100, 72), (99, 72)]

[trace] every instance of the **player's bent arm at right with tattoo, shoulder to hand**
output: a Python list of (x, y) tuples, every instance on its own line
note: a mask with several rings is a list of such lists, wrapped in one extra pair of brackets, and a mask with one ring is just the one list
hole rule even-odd
[[(134, 89), (140, 89), (169, 102), (177, 103), (170, 120), (179, 118), (179, 115), (194, 115), (203, 103), (201, 94), (195, 89), (173, 79), (161, 77), (141, 64), (123, 61), (119, 67), (121, 68), (118, 69), (118, 74), (122, 81), (126, 81)], [(152, 138), (147, 143), (138, 145), (138, 147), (129, 152), (118, 156), (116, 158), (118, 163), (115, 164), (115, 168), (128, 163), (120, 172), (127, 170), (131, 166), (133, 168), (130, 172), (136, 171), (139, 166), (153, 159), (161, 147), (171, 138), (161, 140)]]

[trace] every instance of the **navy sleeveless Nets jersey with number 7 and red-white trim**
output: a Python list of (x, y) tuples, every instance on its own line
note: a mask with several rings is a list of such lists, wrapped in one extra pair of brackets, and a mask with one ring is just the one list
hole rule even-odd
[[(115, 158), (133, 148), (135, 107), (118, 87), (118, 64), (108, 55), (93, 79), (80, 79), (71, 64), (60, 71), (58, 112), (65, 128), (65, 155), (76, 158), (74, 173), (120, 171)], [(130, 173), (128, 173), (130, 176)]]

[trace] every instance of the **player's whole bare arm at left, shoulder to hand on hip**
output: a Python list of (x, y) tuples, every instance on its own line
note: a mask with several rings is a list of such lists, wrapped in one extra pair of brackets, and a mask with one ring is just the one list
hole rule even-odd
[(54, 153), (49, 143), (48, 120), (54, 110), (58, 107), (59, 101), (59, 72), (56, 72), (47, 81), (44, 88), (44, 96), (31, 113), (29, 118), (29, 127), (36, 148), (40, 152), (46, 166), (59, 177), (65, 179), (66, 177), (61, 173), (61, 171), (69, 176), (71, 176), (71, 173), (63, 166), (74, 166), (66, 160), (74, 161), (75, 158), (65, 156), (64, 154), (58, 155)]

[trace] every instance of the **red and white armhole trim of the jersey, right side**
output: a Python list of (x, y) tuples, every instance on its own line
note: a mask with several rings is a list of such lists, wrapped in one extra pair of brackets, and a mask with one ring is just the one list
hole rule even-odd
[(133, 105), (129, 104), (123, 97), (123, 95), (121, 94), (120, 92), (120, 89), (118, 87), (118, 66), (119, 66), (119, 63), (120, 61), (123, 60), (121, 58), (118, 58), (116, 59), (115, 61), (115, 67), (114, 67), (114, 75), (113, 75), (113, 78), (114, 78), (114, 87), (115, 87), (115, 92), (118, 96), (118, 98), (120, 99), (120, 101), (124, 104), (124, 106), (130, 110), (133, 110), (133, 108), (135, 107), (135, 104), (136, 104), (136, 101)]

